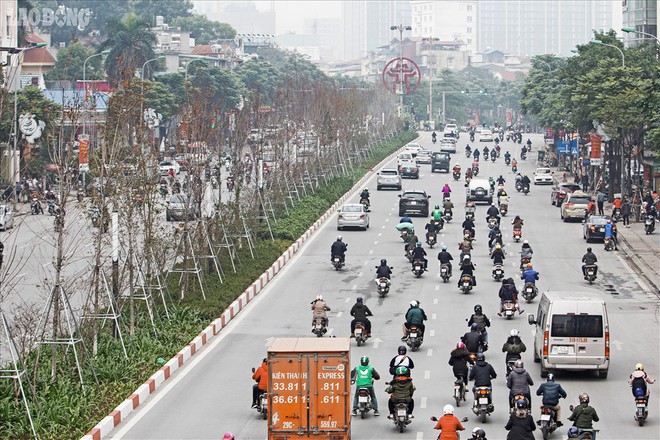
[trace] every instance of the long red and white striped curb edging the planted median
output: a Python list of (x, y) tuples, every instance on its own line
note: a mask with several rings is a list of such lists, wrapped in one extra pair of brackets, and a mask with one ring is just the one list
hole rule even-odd
[[(412, 142), (412, 141), (411, 141)], [(394, 159), (399, 154), (401, 149), (392, 153), (383, 159), (378, 167), (382, 167), (384, 163)], [(312, 237), (312, 235), (323, 225), (323, 223), (330, 218), (337, 208), (343, 205), (346, 200), (351, 198), (353, 194), (363, 187), (364, 183), (372, 177), (372, 172), (365, 174), (353, 187), (345, 193), (339, 200), (337, 200), (312, 226), (305, 231), (298, 240), (293, 242), (289, 248), (284, 251), (282, 255), (273, 263), (268, 270), (261, 274), (245, 291), (234, 300), (229, 307), (222, 312), (222, 315), (211, 324), (208, 325), (202, 332), (195, 337), (188, 345), (183, 347), (172, 359), (165, 363), (157, 372), (151, 375), (149, 379), (138, 387), (126, 400), (120, 403), (114, 411), (104, 417), (99, 423), (96, 424), (81, 440), (102, 440), (107, 438), (110, 432), (117, 427), (122, 421), (128, 418), (138, 406), (145, 403), (156, 389), (163, 384), (170, 376), (179, 368), (181, 368), (195, 353), (202, 349), (213, 336), (220, 333), (220, 330), (225, 328), (229, 321), (238, 315), (243, 308), (245, 308), (252, 299), (277, 275), (284, 265), (293, 258), (301, 246)]]

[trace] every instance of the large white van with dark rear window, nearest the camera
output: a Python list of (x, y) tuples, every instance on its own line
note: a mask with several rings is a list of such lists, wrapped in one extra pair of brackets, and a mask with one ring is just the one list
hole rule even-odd
[(601, 298), (582, 293), (546, 292), (538, 315), (529, 315), (534, 332), (534, 362), (541, 377), (551, 370), (595, 370), (606, 378), (610, 368), (610, 326)]

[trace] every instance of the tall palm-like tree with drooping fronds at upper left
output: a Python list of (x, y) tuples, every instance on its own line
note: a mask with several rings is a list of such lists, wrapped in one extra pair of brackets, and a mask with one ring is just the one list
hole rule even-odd
[[(155, 58), (154, 45), (157, 40), (149, 23), (133, 13), (124, 20), (111, 18), (106, 28), (109, 36), (100, 49), (110, 51), (105, 59), (105, 68), (110, 81), (118, 85), (132, 79), (145, 61)], [(147, 65), (145, 77), (149, 77), (150, 73), (151, 66)]]

